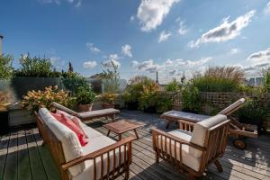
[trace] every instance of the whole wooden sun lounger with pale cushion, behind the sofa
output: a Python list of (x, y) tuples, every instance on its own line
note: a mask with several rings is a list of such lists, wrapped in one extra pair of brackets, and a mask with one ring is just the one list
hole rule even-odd
[(113, 108), (108, 108), (108, 109), (103, 109), (103, 110), (95, 110), (91, 112), (75, 112), (71, 109), (68, 109), (67, 107), (53, 102), (52, 105), (57, 108), (58, 110), (67, 112), (71, 115), (74, 115), (78, 118), (80, 118), (82, 121), (87, 121), (87, 120), (93, 120), (95, 118), (102, 118), (102, 117), (110, 117), (112, 118), (112, 121), (115, 121), (115, 116), (116, 114), (120, 113), (119, 110), (113, 109)]

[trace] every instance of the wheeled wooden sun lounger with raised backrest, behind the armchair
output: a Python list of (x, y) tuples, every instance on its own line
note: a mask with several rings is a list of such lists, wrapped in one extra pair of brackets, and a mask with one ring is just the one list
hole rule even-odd
[[(240, 107), (245, 103), (245, 99), (241, 98), (237, 102), (232, 103), (227, 108), (219, 112), (219, 114), (229, 115), (232, 112), (236, 112)], [(211, 116), (190, 113), (190, 112), (180, 112), (180, 111), (170, 111), (163, 113), (160, 118), (167, 121), (166, 129), (172, 122), (177, 122), (179, 129), (187, 130), (187, 127), (184, 127), (184, 121), (190, 122), (189, 128), (192, 128), (193, 124), (198, 121), (203, 121)], [(242, 124), (238, 121), (232, 120), (230, 123), (229, 134), (232, 135), (235, 139), (233, 144), (236, 148), (245, 149), (246, 143), (242, 137), (257, 138), (257, 128), (247, 124)]]

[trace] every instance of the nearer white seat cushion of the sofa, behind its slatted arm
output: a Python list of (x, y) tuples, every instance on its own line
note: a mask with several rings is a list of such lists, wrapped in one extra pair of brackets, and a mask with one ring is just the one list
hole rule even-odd
[[(90, 134), (88, 134), (91, 136)], [(98, 149), (105, 148), (109, 145), (112, 145), (115, 143), (114, 140), (106, 137), (106, 136), (97, 136), (94, 137), (93, 139), (89, 140), (89, 143), (83, 147), (84, 150), (84, 155), (89, 154), (91, 152), (94, 152)], [(115, 150), (115, 167), (119, 165), (119, 148)], [(109, 171), (111, 172), (113, 169), (113, 151), (109, 153), (110, 157), (110, 168)], [(103, 156), (103, 175), (107, 174), (107, 154)], [(124, 148), (121, 147), (121, 163), (124, 161)], [(101, 157), (97, 157), (96, 160), (96, 179), (101, 178)], [(73, 180), (85, 180), (89, 179), (92, 180), (94, 179), (94, 160), (86, 160), (85, 161), (85, 170), (76, 176), (72, 176), (71, 179)]]

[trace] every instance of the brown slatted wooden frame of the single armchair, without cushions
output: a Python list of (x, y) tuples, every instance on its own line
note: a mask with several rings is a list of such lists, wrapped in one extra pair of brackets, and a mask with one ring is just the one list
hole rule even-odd
[[(179, 121), (179, 123), (182, 124), (183, 130), (192, 131), (194, 123), (188, 122), (188, 121)], [(195, 177), (202, 176), (205, 169), (213, 162), (215, 166), (217, 166), (219, 172), (222, 172), (222, 167), (220, 166), (220, 162), (218, 159), (222, 157), (225, 153), (225, 148), (227, 146), (227, 136), (229, 132), (229, 123), (230, 120), (224, 121), (211, 129), (206, 131), (205, 141), (204, 141), (204, 147), (201, 147), (199, 145), (193, 144), (192, 142), (186, 141), (184, 139), (180, 139), (178, 137), (175, 137), (171, 134), (166, 133), (162, 130), (152, 129), (152, 141), (153, 141), (153, 149), (156, 153), (156, 162), (159, 162), (159, 157), (166, 160), (173, 166), (176, 166), (177, 169), (180, 171), (187, 171), (189, 173), (189, 179), (194, 180)], [(160, 138), (160, 136), (162, 138)], [(172, 146), (169, 146), (169, 149), (163, 148), (163, 139), (167, 143), (167, 140), (170, 144), (174, 142), (174, 148), (172, 149)], [(159, 144), (161, 144), (161, 147), (159, 147)], [(172, 152), (174, 151), (176, 154), (176, 144), (180, 145), (179, 150), (179, 157), (180, 160), (178, 160), (175, 157), (172, 156)], [(199, 151), (202, 151), (202, 157), (200, 161), (200, 168), (199, 171), (193, 170), (191, 167), (184, 165), (183, 163), (183, 156), (182, 156), (182, 146), (188, 145), (190, 147), (193, 147)], [(179, 148), (179, 147), (178, 147)]]

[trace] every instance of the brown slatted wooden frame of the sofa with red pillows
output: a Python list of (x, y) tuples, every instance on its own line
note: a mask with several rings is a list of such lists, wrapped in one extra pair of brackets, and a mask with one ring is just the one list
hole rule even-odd
[[(105, 148), (101, 148), (92, 153), (85, 155), (84, 157), (78, 157), (72, 161), (67, 162), (64, 157), (63, 148), (61, 141), (54, 135), (54, 133), (49, 130), (46, 124), (40, 118), (40, 115), (35, 112), (38, 129), (40, 131), (40, 135), (44, 142), (48, 145), (50, 154), (52, 155), (56, 165), (58, 166), (58, 170), (61, 175), (62, 180), (68, 180), (68, 168), (72, 166), (76, 166), (80, 163), (83, 163), (85, 160), (93, 160), (94, 161), (94, 180), (96, 178), (97, 166), (96, 166), (96, 158), (101, 158), (101, 178), (100, 179), (115, 179), (120, 175), (124, 174), (124, 179), (129, 179), (130, 175), (130, 164), (132, 162), (131, 158), (131, 142), (136, 138), (131, 136), (126, 139), (121, 139), (120, 141), (115, 142), (114, 144), (107, 146)], [(121, 153), (119, 153), (119, 166), (116, 166), (116, 151), (121, 152), (121, 148), (124, 149), (124, 156), (122, 157)], [(110, 170), (110, 152), (113, 153), (113, 168)], [(107, 171), (103, 172), (103, 158), (107, 157)], [(90, 177), (89, 177), (90, 178)]]

